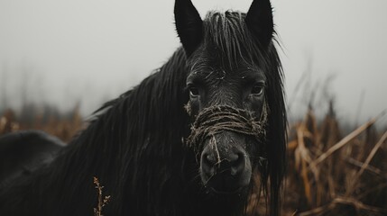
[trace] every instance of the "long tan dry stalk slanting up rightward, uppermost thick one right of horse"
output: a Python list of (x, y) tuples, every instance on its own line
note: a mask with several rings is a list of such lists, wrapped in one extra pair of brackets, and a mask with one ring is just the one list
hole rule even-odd
[[(319, 163), (327, 159), (330, 155), (332, 155), (336, 150), (344, 147), (346, 144), (348, 144), (352, 139), (355, 139), (357, 136), (359, 136), (360, 133), (362, 133), (364, 130), (371, 127), (377, 119), (374, 118), (371, 121), (366, 122), (364, 125), (360, 126), (353, 132), (351, 132), (349, 135), (347, 135), (344, 139), (341, 139), (339, 142), (336, 143), (333, 147), (327, 149), (327, 151), (324, 154), (321, 154), (315, 161), (313, 161), (310, 166), (317, 166)], [(312, 166), (313, 165), (313, 166)]]

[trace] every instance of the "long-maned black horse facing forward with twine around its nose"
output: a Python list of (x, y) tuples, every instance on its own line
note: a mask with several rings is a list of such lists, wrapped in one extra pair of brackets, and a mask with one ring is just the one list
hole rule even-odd
[(93, 176), (108, 216), (244, 215), (254, 191), (279, 214), (286, 113), (270, 1), (201, 20), (176, 0), (175, 21), (182, 48), (49, 166), (1, 188), (0, 215), (91, 215)]

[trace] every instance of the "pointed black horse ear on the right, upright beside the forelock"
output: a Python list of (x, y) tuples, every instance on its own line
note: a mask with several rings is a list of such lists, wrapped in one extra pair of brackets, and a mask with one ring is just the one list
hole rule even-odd
[(272, 4), (270, 0), (253, 0), (244, 22), (247, 28), (266, 48), (272, 40)]

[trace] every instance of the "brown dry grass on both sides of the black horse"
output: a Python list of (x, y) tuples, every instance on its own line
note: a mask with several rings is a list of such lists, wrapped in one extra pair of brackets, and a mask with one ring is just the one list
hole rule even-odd
[[(322, 121), (309, 110), (290, 122), (283, 215), (387, 215), (387, 131), (375, 121), (347, 134), (333, 109)], [(0, 113), (0, 135), (38, 129), (69, 141), (82, 127), (78, 109), (67, 117), (36, 114), (28, 123), (11, 110)]]

